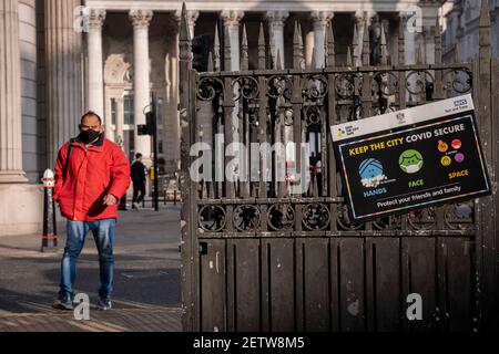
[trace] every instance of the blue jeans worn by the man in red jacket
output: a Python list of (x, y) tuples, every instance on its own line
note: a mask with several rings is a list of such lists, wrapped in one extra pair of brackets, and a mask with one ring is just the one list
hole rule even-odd
[(113, 290), (114, 254), (113, 238), (116, 219), (103, 219), (96, 221), (71, 221), (67, 222), (68, 238), (64, 254), (61, 261), (61, 284), (59, 298), (72, 296), (73, 284), (77, 280), (77, 263), (81, 250), (85, 244), (89, 230), (93, 233), (95, 246), (99, 251), (99, 269), (101, 288), (99, 296), (109, 299)]

